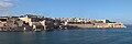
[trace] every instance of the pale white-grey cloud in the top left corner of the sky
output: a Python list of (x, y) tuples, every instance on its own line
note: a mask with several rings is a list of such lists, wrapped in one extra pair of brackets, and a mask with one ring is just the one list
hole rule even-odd
[(12, 7), (14, 7), (14, 4), (11, 0), (0, 0), (0, 9), (9, 9)]

